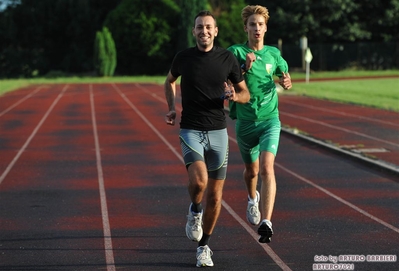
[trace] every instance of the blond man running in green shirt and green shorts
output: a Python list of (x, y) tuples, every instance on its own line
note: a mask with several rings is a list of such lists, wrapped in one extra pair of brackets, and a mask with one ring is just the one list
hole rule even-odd
[[(263, 6), (246, 6), (241, 13), (248, 41), (228, 48), (243, 68), (251, 99), (246, 104), (230, 102), (230, 117), (236, 119), (237, 143), (245, 164), (248, 190), (247, 219), (260, 226), (259, 242), (269, 243), (273, 235), (271, 217), (276, 197), (274, 160), (280, 139), (281, 123), (278, 95), (273, 76), (284, 89), (292, 87), (287, 62), (280, 51), (264, 45), (269, 12)], [(258, 174), (262, 180), (256, 190)], [(259, 211), (260, 204), (260, 211)]]

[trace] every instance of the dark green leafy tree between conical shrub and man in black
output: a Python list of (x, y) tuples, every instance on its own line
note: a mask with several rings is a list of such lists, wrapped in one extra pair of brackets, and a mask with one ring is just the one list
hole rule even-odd
[(108, 14), (104, 25), (113, 34), (121, 74), (166, 74), (179, 11), (172, 0), (123, 0)]

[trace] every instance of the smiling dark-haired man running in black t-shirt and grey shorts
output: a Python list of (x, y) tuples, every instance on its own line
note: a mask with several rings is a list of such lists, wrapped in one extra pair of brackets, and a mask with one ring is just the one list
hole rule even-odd
[[(181, 76), (182, 112), (180, 145), (187, 168), (191, 204), (186, 235), (199, 242), (197, 266), (213, 266), (208, 244), (219, 217), (228, 161), (224, 99), (249, 101), (249, 91), (234, 55), (214, 46), (216, 20), (208, 11), (194, 20), (196, 46), (176, 54), (165, 80), (169, 112), (165, 121), (175, 124), (176, 80)], [(231, 82), (232, 85), (227, 82)], [(205, 190), (208, 189), (207, 195)], [(202, 200), (206, 198), (205, 210)]]

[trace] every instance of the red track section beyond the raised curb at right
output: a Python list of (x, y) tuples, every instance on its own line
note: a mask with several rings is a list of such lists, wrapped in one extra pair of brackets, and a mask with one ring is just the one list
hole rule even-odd
[(399, 173), (398, 112), (296, 95), (280, 95), (279, 107), (285, 127)]

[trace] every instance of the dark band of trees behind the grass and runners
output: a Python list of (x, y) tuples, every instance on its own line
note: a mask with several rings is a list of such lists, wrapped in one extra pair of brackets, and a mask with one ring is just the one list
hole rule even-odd
[(291, 70), (399, 68), (399, 0), (2, 0), (0, 78), (166, 75), (194, 46), (194, 16), (217, 18), (216, 43), (244, 43), (241, 10), (263, 5), (265, 43)]

